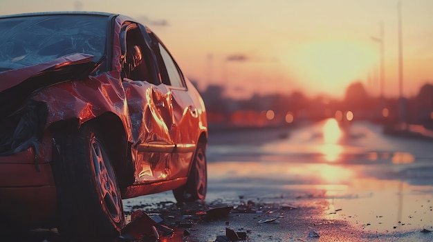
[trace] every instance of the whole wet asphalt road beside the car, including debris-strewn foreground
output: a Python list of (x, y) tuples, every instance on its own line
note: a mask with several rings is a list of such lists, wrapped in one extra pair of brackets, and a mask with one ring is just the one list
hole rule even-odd
[(141, 209), (176, 228), (161, 241), (223, 241), (227, 228), (247, 241), (433, 241), (432, 141), (327, 120), (212, 130), (207, 157), (205, 203), (163, 192), (124, 200), (127, 214)]

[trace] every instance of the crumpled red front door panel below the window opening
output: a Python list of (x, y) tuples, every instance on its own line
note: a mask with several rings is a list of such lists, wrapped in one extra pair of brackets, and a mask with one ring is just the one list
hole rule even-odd
[(172, 105), (164, 85), (124, 81), (132, 127), (135, 184), (171, 179)]

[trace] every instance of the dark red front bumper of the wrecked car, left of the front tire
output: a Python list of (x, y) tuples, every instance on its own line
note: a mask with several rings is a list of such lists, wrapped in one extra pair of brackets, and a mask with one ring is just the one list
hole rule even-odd
[(21, 225), (53, 221), (57, 195), (49, 163), (35, 166), (32, 149), (0, 157), (0, 216)]

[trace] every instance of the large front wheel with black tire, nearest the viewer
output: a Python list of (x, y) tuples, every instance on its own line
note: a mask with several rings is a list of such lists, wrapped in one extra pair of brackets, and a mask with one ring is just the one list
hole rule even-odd
[(125, 225), (120, 189), (104, 137), (91, 125), (56, 143), (59, 232), (66, 241), (113, 241)]

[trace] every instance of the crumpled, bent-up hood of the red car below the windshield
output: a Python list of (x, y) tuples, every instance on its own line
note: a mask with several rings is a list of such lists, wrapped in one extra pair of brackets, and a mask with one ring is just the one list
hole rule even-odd
[[(36, 77), (42, 75), (46, 72), (62, 72), (62, 70), (70, 69), (67, 67), (71, 67), (71, 65), (85, 64), (89, 63), (93, 65), (92, 68), (87, 69), (88, 73), (77, 73), (80, 76), (84, 74), (85, 76), (89, 75), (93, 70), (95, 70), (95, 63), (91, 62), (93, 56), (91, 54), (68, 54), (64, 57), (60, 57), (53, 61), (48, 61), (46, 63), (41, 63), (38, 65), (28, 66), (26, 68), (20, 68), (17, 70), (8, 70), (6, 72), (0, 72), (0, 92), (4, 90), (8, 90), (16, 85), (19, 85), (30, 79), (31, 77)], [(82, 65), (80, 65), (82, 67)], [(81, 68), (79, 68), (81, 69)]]

